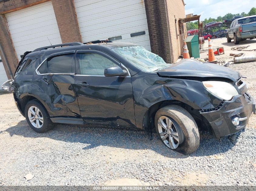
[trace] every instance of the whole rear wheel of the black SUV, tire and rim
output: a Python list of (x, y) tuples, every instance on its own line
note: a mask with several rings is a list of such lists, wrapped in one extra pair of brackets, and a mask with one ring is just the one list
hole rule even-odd
[[(25, 117), (31, 129), (38, 133), (47, 132), (54, 126), (47, 110), (42, 103), (37, 100), (31, 100), (26, 104)], [(31, 122), (30, 120), (33, 121)]]

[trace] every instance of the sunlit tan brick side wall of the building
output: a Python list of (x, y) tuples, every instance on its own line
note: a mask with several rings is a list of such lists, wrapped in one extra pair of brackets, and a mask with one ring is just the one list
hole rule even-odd
[[(174, 62), (181, 55), (182, 35), (179, 33), (179, 19), (185, 18), (185, 8), (182, 0), (166, 0), (169, 30), (171, 36), (171, 47), (174, 56)], [(176, 18), (176, 23), (175, 23)]]

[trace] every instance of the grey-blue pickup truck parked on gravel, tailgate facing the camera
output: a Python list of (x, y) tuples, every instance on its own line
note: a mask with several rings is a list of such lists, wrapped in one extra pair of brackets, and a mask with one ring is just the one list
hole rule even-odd
[(256, 15), (234, 20), (227, 32), (227, 42), (234, 39), (234, 44), (239, 41), (256, 38)]

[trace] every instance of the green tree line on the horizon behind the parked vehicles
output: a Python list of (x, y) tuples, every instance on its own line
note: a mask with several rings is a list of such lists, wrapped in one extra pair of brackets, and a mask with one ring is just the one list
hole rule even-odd
[[(242, 12), (241, 14), (240, 13), (237, 13), (237, 14), (227, 13), (223, 17), (218, 16), (216, 19), (210, 17), (209, 19), (204, 19), (203, 25), (210, 23), (210, 22), (222, 22), (223, 20), (232, 19), (234, 16), (238, 16), (238, 15), (243, 15), (244, 17), (256, 15), (256, 8), (254, 8), (254, 7), (251, 8), (251, 10), (248, 12), (248, 14), (246, 14), (245, 12)], [(198, 29), (198, 21), (187, 22), (186, 26), (187, 26), (187, 30)], [(222, 27), (222, 29), (227, 29), (227, 27)], [(212, 30), (212, 32), (215, 32), (217, 30), (218, 29), (214, 29), (214, 30)]]

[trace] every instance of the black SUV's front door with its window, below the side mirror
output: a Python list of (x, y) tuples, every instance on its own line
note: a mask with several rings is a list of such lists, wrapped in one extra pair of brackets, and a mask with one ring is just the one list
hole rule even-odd
[(81, 116), (88, 123), (135, 125), (131, 76), (105, 77), (105, 68), (113, 66), (123, 67), (101, 51), (77, 51), (75, 84)]

